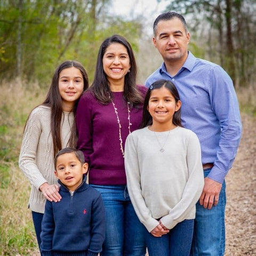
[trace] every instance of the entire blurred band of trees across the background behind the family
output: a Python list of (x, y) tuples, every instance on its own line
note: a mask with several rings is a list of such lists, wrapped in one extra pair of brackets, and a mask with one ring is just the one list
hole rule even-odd
[[(19, 77), (47, 87), (55, 67), (63, 60), (73, 59), (83, 63), (91, 82), (99, 45), (106, 37), (121, 34), (137, 54), (139, 82), (143, 83), (161, 62), (151, 44), (152, 34), (143, 30), (149, 21), (153, 25), (159, 13), (156, 10), (150, 17), (143, 13), (130, 17), (113, 15), (113, 2), (0, 0), (0, 81)], [(165, 2), (166, 11), (185, 15), (192, 35), (189, 49), (197, 57), (219, 63), (236, 87), (254, 82), (254, 0), (157, 2)]]

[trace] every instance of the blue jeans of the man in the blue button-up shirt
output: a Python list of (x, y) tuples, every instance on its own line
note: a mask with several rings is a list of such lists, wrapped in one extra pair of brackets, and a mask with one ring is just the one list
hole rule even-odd
[[(207, 177), (211, 169), (204, 170)], [(226, 183), (222, 183), (219, 203), (212, 206), (211, 210), (204, 209), (196, 204), (196, 219), (194, 237), (190, 255), (222, 256), (225, 252), (225, 206), (226, 206)]]

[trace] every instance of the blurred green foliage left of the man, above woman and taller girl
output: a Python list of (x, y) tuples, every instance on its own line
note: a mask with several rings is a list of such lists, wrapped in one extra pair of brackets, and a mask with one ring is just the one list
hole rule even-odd
[(48, 87), (59, 63), (72, 59), (85, 66), (92, 81), (107, 36), (127, 36), (138, 49), (140, 23), (110, 17), (110, 0), (20, 2), (0, 0), (0, 80), (21, 74)]

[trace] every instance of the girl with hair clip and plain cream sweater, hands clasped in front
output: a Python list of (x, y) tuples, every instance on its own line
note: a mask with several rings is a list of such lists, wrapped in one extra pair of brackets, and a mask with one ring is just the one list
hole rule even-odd
[(125, 143), (127, 187), (149, 255), (189, 255), (204, 185), (199, 140), (182, 127), (180, 107), (175, 85), (156, 81), (145, 97), (142, 129)]

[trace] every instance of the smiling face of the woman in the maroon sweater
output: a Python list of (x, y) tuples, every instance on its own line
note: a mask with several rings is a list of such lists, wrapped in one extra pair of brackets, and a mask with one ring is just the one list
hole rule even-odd
[(102, 58), (103, 70), (111, 83), (122, 82), (131, 67), (126, 47), (119, 43), (110, 44)]

